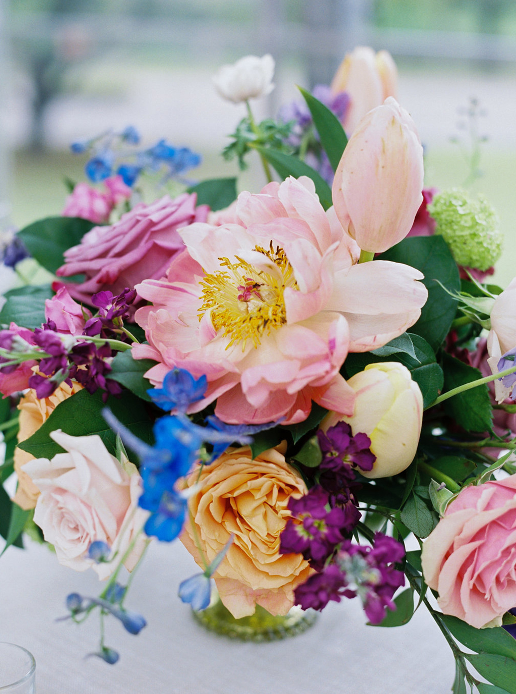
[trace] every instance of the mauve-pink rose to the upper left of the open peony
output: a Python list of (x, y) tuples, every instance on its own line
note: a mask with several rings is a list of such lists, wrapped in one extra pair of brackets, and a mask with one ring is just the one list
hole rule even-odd
[(205, 221), (207, 207), (196, 208), (196, 195), (168, 195), (146, 205), (140, 203), (110, 226), (96, 226), (78, 246), (65, 252), (65, 264), (57, 274), (86, 275), (78, 285), (67, 285), (71, 296), (86, 301), (102, 289), (120, 294), (148, 278), (164, 276), (173, 256), (182, 249), (178, 228)]

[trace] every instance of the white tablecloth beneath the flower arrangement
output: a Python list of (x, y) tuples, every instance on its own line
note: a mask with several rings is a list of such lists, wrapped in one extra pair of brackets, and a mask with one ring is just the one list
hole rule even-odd
[(77, 626), (64, 616), (68, 593), (98, 595), (93, 571), (75, 573), (30, 543), (0, 558), (0, 641), (30, 650), (37, 694), (445, 694), (454, 660), (424, 607), (404, 627), (365, 626), (358, 600), (332, 603), (304, 634), (275, 643), (240, 643), (205, 632), (176, 597), (198, 568), (179, 542), (154, 543), (127, 600), (148, 626), (132, 636), (107, 618), (109, 666), (96, 650), (98, 618)]

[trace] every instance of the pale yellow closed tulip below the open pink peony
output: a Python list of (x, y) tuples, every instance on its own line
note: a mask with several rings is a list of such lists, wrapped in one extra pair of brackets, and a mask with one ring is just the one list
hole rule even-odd
[(399, 362), (368, 364), (347, 383), (356, 394), (352, 416), (330, 412), (321, 428), (338, 421), (350, 424), (353, 435), (363, 432), (371, 439), (377, 457), (364, 477), (397, 475), (413, 461), (421, 433), (423, 398), (411, 372)]

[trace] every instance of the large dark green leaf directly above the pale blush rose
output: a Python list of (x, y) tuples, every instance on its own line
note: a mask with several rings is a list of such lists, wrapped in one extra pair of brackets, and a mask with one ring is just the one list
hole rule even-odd
[[(62, 429), (70, 436), (90, 436), (98, 434), (107, 450), (117, 453), (117, 434), (110, 429), (102, 416), (104, 407), (109, 407), (115, 417), (146, 443), (153, 443), (152, 420), (142, 400), (125, 391), (120, 398), (107, 398), (104, 405), (101, 391), (90, 395), (81, 390), (71, 398), (60, 403), (46, 422), (30, 438), (19, 443), (19, 448), (31, 453), (35, 458), (52, 458), (62, 448), (49, 434)], [(135, 462), (135, 458), (131, 458)]]

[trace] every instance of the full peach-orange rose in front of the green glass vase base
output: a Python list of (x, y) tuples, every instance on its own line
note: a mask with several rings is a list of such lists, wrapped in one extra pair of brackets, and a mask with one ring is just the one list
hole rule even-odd
[[(254, 613), (257, 604), (273, 615), (286, 614), (295, 587), (311, 573), (302, 555), (279, 554), (279, 534), (291, 517), (289, 498), (307, 493), (299, 473), (275, 448), (254, 460), (249, 448), (237, 448), (205, 466), (199, 479), (194, 470), (187, 485), (194, 484), (189, 509), (207, 561), (234, 536), (214, 575), (225, 607), (236, 618)], [(190, 523), (180, 539), (203, 566)]]

